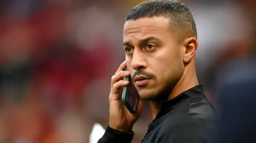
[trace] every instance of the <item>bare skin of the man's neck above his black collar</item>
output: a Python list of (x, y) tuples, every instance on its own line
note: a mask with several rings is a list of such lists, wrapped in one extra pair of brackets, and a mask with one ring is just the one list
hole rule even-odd
[[(199, 82), (197, 80), (195, 69), (188, 65), (185, 68), (178, 83), (172, 88), (172, 91), (169, 94), (168, 100), (171, 100), (172, 98), (176, 97), (177, 95), (187, 91), (188, 89), (196, 85), (199, 85)], [(149, 101), (149, 103), (150, 103), (152, 118), (154, 120), (159, 111), (160, 101)]]

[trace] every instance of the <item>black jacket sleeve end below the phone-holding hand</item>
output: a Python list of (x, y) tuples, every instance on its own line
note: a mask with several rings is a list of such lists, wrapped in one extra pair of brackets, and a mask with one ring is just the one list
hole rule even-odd
[(134, 132), (123, 133), (119, 132), (111, 127), (106, 128), (106, 132), (99, 139), (98, 143), (131, 143), (134, 136)]

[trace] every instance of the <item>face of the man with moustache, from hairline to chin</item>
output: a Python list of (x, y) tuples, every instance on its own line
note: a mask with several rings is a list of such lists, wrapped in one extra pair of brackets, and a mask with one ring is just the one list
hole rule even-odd
[(170, 94), (182, 76), (184, 65), (180, 46), (164, 17), (128, 20), (123, 42), (127, 68), (139, 96), (145, 100)]

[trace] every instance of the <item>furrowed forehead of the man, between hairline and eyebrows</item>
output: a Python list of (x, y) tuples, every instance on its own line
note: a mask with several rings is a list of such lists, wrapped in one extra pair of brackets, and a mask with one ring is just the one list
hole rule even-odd
[(130, 41), (132, 38), (140, 40), (147, 36), (167, 36), (170, 35), (169, 28), (170, 20), (164, 17), (127, 20), (123, 29), (123, 41)]

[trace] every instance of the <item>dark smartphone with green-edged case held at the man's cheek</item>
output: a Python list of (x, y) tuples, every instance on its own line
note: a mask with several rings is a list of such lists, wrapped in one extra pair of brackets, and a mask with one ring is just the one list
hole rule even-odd
[[(125, 70), (128, 71), (127, 68)], [(129, 81), (129, 85), (123, 87), (122, 102), (130, 113), (134, 114), (137, 110), (139, 94), (133, 84), (131, 76), (125, 77), (124, 80)]]

